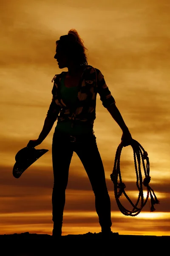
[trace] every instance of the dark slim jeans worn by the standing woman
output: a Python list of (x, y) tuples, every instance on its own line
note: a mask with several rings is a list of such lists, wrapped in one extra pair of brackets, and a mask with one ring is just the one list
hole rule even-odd
[(101, 227), (111, 227), (111, 201), (105, 181), (105, 171), (100, 157), (96, 137), (90, 134), (76, 137), (54, 131), (52, 142), (52, 162), (54, 187), (52, 192), (52, 220), (57, 227), (62, 226), (65, 206), (65, 189), (73, 152), (81, 160), (95, 195), (95, 207)]

